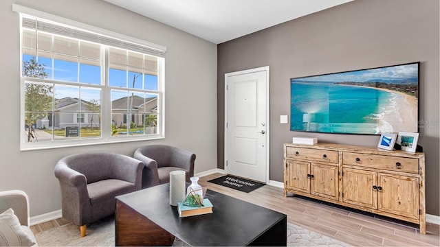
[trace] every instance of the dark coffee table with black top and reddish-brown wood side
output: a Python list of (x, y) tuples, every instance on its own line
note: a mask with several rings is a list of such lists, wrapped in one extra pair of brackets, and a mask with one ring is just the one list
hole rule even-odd
[(116, 197), (116, 246), (286, 246), (287, 216), (208, 189), (213, 213), (179, 217), (169, 184)]

